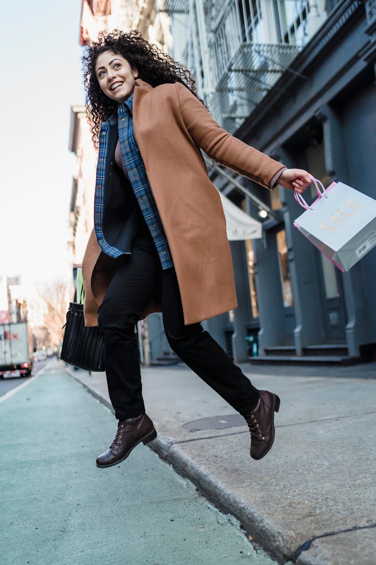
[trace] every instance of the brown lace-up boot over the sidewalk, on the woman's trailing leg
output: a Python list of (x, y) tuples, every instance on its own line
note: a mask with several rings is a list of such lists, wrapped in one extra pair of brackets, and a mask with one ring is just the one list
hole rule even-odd
[(268, 392), (259, 390), (260, 399), (254, 409), (244, 416), (251, 433), (250, 456), (262, 459), (271, 449), (275, 436), (274, 412), (280, 409), (280, 398)]

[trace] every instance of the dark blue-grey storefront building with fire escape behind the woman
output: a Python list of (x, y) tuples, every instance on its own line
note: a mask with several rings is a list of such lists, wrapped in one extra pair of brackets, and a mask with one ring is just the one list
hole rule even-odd
[[(188, 44), (198, 38), (195, 50), (186, 45), (182, 54), (189, 52), (220, 125), (287, 167), (308, 169), (325, 186), (342, 181), (375, 198), (376, 2), (194, 5), (194, 14), (184, 2), (160, 9), (171, 15), (173, 36), (185, 17)], [(252, 198), (218, 169), (210, 176), (260, 220)], [(205, 321), (205, 328), (237, 362), (375, 355), (376, 249), (342, 273), (294, 227), (302, 209), (293, 192), (269, 193), (244, 178), (241, 184), (273, 214), (261, 220), (262, 240), (231, 242), (238, 308)], [(308, 198), (314, 194), (312, 188)]]

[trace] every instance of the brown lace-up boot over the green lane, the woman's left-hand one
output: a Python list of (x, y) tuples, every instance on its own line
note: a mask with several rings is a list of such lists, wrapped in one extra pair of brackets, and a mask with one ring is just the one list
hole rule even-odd
[(119, 420), (117, 434), (109, 449), (99, 455), (96, 460), (97, 467), (111, 467), (128, 457), (132, 449), (141, 441), (146, 445), (155, 440), (157, 432), (152, 420), (146, 414)]

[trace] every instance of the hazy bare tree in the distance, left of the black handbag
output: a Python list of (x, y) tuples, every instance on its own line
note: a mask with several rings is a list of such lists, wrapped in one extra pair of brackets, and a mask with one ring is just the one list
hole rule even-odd
[(55, 281), (37, 288), (37, 298), (33, 301), (33, 316), (38, 327), (45, 327), (49, 333), (52, 347), (59, 347), (63, 341), (63, 326), (72, 296), (72, 285)]

